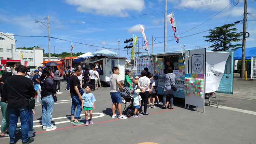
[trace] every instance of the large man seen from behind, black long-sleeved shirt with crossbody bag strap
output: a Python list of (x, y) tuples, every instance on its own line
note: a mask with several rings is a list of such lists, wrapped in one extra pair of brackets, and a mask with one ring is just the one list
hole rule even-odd
[[(18, 117), (20, 118), (21, 131), (22, 131), (22, 143), (29, 144), (34, 141), (33, 138), (28, 137), (28, 117), (29, 108), (28, 101), (30, 97), (34, 98), (35, 89), (32, 81), (26, 78), (28, 68), (25, 66), (19, 66), (17, 74), (9, 77), (3, 87), (3, 98), (7, 102), (7, 109), (10, 114), (9, 136), (10, 144), (16, 143), (15, 133), (18, 123)], [(26, 99), (16, 93), (6, 82), (8, 82), (16, 91), (23, 95)]]

